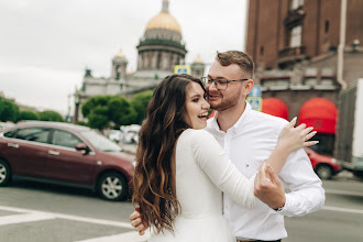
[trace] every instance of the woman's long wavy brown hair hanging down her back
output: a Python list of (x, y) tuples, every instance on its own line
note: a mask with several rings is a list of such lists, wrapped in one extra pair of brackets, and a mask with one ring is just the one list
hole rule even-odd
[(189, 128), (184, 121), (188, 86), (200, 79), (190, 75), (165, 77), (154, 90), (146, 120), (140, 130), (132, 202), (140, 206), (141, 219), (157, 233), (170, 232), (180, 205), (175, 194), (172, 156), (178, 136)]

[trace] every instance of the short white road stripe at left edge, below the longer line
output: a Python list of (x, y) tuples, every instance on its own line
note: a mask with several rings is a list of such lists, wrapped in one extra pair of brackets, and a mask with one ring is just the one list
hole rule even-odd
[(35, 222), (42, 220), (55, 219), (53, 216), (43, 212), (32, 212), (13, 216), (1, 216), (0, 226), (8, 226), (22, 222)]

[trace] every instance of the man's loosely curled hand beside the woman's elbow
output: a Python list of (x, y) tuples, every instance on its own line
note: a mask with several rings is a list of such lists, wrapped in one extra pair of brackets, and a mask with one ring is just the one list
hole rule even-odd
[(254, 196), (272, 209), (285, 206), (286, 198), (283, 185), (267, 164), (263, 164), (256, 174)]

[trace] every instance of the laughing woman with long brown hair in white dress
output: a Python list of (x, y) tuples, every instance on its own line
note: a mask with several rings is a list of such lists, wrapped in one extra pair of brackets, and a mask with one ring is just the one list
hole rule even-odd
[[(133, 202), (152, 228), (150, 242), (235, 241), (222, 215), (222, 193), (252, 207), (254, 176), (245, 178), (227, 157), (207, 125), (209, 103), (201, 81), (166, 77), (155, 89), (140, 131)], [(288, 154), (315, 144), (311, 129), (285, 128), (266, 161), (276, 174)]]

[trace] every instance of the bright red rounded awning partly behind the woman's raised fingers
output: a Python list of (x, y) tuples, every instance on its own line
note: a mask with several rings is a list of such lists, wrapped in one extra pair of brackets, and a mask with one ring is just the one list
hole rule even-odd
[(324, 98), (314, 98), (305, 102), (299, 111), (299, 124), (314, 127), (318, 133), (336, 134), (338, 110)]

